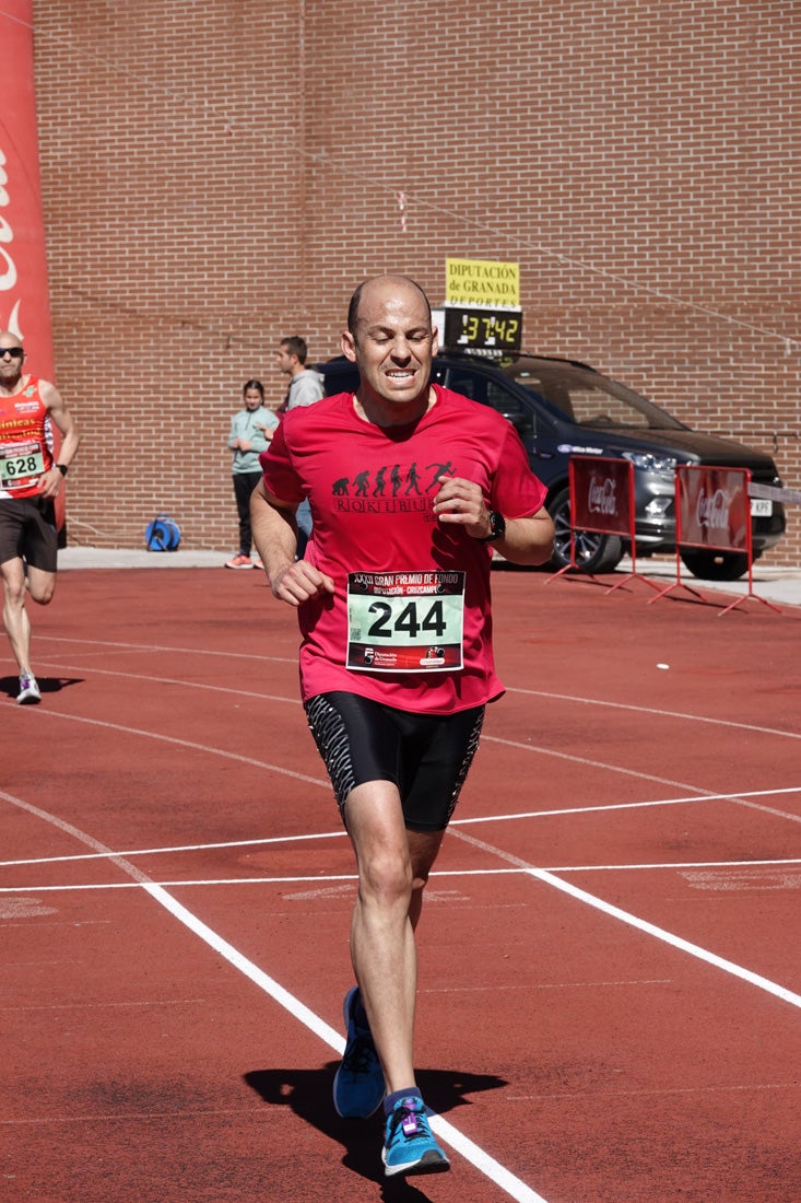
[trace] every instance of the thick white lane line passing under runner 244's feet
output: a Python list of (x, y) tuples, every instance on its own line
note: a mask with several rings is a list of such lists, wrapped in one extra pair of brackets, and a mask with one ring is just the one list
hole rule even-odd
[[(41, 810), (38, 806), (32, 806), (29, 802), (22, 801), (22, 799), (13, 798), (11, 794), (4, 794), (8, 801), (18, 806), (20, 810), (26, 811), (29, 814), (35, 814), (37, 818), (43, 819), (47, 823), (52, 823), (54, 826), (59, 828), (61, 831), (75, 836), (82, 843), (89, 845), (89, 847), (96, 851), (103, 849), (103, 846), (99, 840), (94, 840), (85, 831), (79, 828), (73, 826), (71, 823), (65, 823), (57, 816), (51, 814), (48, 811)], [(299, 1020), (305, 1027), (308, 1027), (315, 1036), (327, 1044), (330, 1048), (342, 1056), (345, 1051), (345, 1039), (344, 1037), (331, 1027), (325, 1020), (320, 1019), (309, 1007), (296, 998), (295, 995), (285, 990), (274, 978), (263, 970), (260, 970), (257, 965), (249, 961), (247, 956), (218, 935), (212, 928), (204, 924), (195, 914), (191, 913), (183, 903), (173, 899), (171, 894), (167, 894), (165, 889), (155, 883), (150, 882), (148, 877), (136, 867), (136, 865), (130, 864), (121, 857), (117, 857), (111, 848), (103, 849), (107, 855), (114, 860), (123, 872), (129, 873), (135, 882), (140, 883), (147, 893), (153, 897), (155, 902), (165, 907), (170, 914), (183, 923), (190, 931), (203, 940), (209, 948), (214, 949), (220, 956), (224, 956), (235, 968), (243, 973), (254, 985), (257, 985), (265, 994), (269, 995), (279, 1006), (284, 1007), (292, 1018)], [(499, 1186), (506, 1192), (516, 1203), (547, 1203), (541, 1195), (527, 1186), (526, 1183), (516, 1178), (505, 1166), (491, 1157), (489, 1154), (482, 1149), (480, 1145), (475, 1144), (464, 1133), (459, 1132), (458, 1128), (444, 1120), (441, 1115), (432, 1115), (431, 1126), (437, 1132), (437, 1134), (446, 1144), (449, 1144), (456, 1152), (461, 1154), (465, 1161), (470, 1162), (480, 1173), (489, 1178), (492, 1183)]]

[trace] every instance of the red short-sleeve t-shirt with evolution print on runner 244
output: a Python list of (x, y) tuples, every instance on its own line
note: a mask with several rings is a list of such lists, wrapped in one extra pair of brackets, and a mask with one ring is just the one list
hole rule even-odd
[(440, 523), (438, 478), (481, 485), (491, 509), (527, 517), (545, 500), (515, 428), (434, 385), (416, 422), (381, 427), (339, 393), (285, 414), (260, 456), (267, 492), (314, 521), (305, 558), (336, 593), (299, 608), (301, 692), (344, 689), (447, 715), (503, 693), (489, 611), (489, 546)]

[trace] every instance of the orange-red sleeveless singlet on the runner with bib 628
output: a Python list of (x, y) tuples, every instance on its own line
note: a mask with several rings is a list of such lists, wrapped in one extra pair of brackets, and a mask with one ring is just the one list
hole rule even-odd
[(53, 467), (48, 410), (38, 384), (28, 377), (19, 392), (0, 395), (0, 499), (36, 497), (42, 476)]

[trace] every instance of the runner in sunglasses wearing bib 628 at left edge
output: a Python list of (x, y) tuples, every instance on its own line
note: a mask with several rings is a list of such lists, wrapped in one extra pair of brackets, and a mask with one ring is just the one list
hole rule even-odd
[[(19, 670), (17, 701), (30, 705), (41, 692), (30, 666), (30, 620), (25, 594), (48, 605), (55, 589), (58, 532), (53, 498), (78, 450), (66, 402), (49, 380), (23, 374), (19, 338), (0, 331), (0, 577), (2, 623)], [(63, 443), (53, 458), (53, 422)]]

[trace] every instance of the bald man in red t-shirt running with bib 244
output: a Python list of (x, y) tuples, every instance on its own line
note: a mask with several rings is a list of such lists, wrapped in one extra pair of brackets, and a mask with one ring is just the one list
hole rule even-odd
[[(363, 1118), (384, 1102), (392, 1177), (449, 1168), (415, 1081), (414, 931), (485, 706), (503, 693), (491, 547), (541, 564), (553, 527), (514, 427), (429, 383), (437, 332), (419, 285), (361, 285), (342, 348), (358, 390), (284, 416), (251, 522), (273, 594), (298, 610), (303, 704), (358, 865), (334, 1106)], [(314, 533), (296, 561), (305, 497)]]

